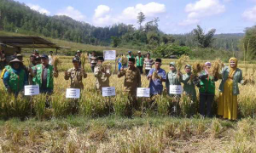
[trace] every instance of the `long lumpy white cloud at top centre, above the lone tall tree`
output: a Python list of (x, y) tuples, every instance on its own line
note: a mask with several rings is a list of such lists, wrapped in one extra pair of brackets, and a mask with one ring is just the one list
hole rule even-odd
[(137, 14), (143, 12), (147, 19), (157, 17), (166, 12), (165, 4), (147, 3), (143, 5), (138, 3), (136, 6), (125, 8), (120, 14), (112, 14), (111, 8), (106, 5), (99, 5), (95, 9), (93, 23), (95, 26), (111, 26), (114, 23), (135, 24)]

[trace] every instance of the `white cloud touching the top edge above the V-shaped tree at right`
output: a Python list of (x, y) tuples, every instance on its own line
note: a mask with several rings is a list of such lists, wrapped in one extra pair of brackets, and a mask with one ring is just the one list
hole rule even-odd
[(189, 26), (195, 25), (202, 18), (215, 14), (224, 13), (225, 6), (219, 0), (198, 0), (195, 3), (186, 5), (185, 12), (188, 13), (186, 20), (183, 20), (179, 25)]

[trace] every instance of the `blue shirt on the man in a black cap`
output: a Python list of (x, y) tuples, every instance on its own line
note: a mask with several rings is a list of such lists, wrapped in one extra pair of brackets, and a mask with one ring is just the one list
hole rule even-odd
[[(152, 76), (153, 73), (155, 71), (155, 68), (151, 69), (148, 72), (148, 76)], [(166, 71), (164, 71), (163, 69), (160, 69), (157, 74), (162, 77), (162, 79), (166, 79)], [(150, 79), (149, 82), (149, 88), (150, 88), (150, 94), (162, 94), (163, 92), (163, 84), (160, 81), (160, 79), (156, 79), (156, 80), (152, 80)]]

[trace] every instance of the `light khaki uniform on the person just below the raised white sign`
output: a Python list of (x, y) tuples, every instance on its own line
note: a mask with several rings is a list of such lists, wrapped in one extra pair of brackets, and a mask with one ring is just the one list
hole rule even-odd
[(94, 76), (96, 77), (96, 89), (102, 91), (102, 87), (109, 87), (109, 77), (111, 73), (109, 70), (102, 72), (102, 68), (100, 65), (97, 65), (94, 69)]

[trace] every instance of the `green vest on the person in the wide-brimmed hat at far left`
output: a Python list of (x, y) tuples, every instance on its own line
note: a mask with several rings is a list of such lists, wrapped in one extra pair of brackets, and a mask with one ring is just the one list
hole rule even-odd
[(9, 82), (8, 82), (9, 87), (15, 93), (20, 92), (20, 90), (24, 88), (24, 82), (25, 82), (24, 78), (26, 75), (25, 71), (20, 70), (20, 73), (18, 75), (15, 74), (13, 69), (9, 69), (8, 71), (10, 73)]

